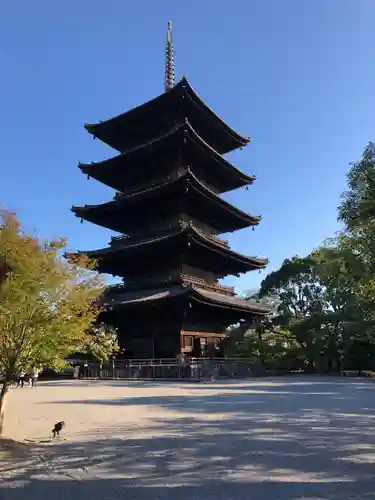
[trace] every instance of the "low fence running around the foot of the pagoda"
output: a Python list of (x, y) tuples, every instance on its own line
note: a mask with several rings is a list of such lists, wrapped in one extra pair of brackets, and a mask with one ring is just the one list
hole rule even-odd
[(254, 360), (198, 358), (188, 362), (175, 359), (133, 359), (114, 363), (81, 365), (79, 370), (69, 369), (71, 376), (90, 379), (136, 380), (217, 380), (247, 378), (264, 375)]

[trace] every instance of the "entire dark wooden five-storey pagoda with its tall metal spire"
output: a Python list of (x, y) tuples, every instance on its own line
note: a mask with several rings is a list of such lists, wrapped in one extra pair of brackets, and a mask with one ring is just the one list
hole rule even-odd
[(113, 188), (113, 200), (72, 207), (86, 221), (120, 233), (107, 248), (82, 252), (100, 272), (121, 277), (109, 287), (101, 320), (118, 328), (133, 358), (221, 355), (230, 325), (268, 313), (219, 280), (262, 269), (266, 259), (233, 251), (218, 235), (257, 226), (220, 194), (252, 184), (222, 156), (249, 139), (224, 123), (186, 78), (174, 82), (168, 26), (165, 92), (86, 130), (117, 150), (80, 170)]

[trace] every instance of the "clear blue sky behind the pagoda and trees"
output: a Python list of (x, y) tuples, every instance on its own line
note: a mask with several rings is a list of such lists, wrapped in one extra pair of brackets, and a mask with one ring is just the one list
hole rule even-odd
[[(232, 247), (267, 256), (270, 271), (339, 228), (348, 163), (375, 139), (373, 0), (18, 0), (1, 11), (0, 204), (28, 230), (106, 245), (108, 230), (70, 212), (113, 194), (76, 167), (112, 155), (82, 125), (163, 91), (168, 20), (177, 77), (252, 137), (231, 159), (257, 182), (227, 198), (264, 219)], [(229, 282), (241, 292), (261, 278)]]

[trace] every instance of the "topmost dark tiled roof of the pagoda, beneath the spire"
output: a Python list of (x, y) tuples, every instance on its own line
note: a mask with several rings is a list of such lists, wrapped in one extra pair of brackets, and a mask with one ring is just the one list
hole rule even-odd
[[(164, 119), (161, 119), (163, 116)], [(125, 113), (99, 123), (86, 123), (86, 130), (118, 151), (148, 142), (172, 125), (189, 119), (199, 135), (219, 153), (227, 153), (249, 143), (203, 102), (184, 77), (171, 90)], [(157, 133), (159, 130), (159, 133)]]

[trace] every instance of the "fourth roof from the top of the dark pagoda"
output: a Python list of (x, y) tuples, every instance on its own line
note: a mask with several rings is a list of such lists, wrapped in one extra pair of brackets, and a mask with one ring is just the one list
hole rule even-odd
[[(101, 272), (121, 276), (120, 273), (116, 273), (114, 270), (116, 268), (118, 270), (120, 270), (120, 268), (126, 270), (127, 267), (130, 267), (130, 269), (134, 268), (133, 259), (137, 256), (137, 254), (139, 257), (143, 255), (144, 258), (150, 259), (149, 255), (151, 253), (155, 256), (155, 258), (159, 258), (158, 255), (160, 255), (160, 252), (163, 252), (163, 249), (164, 252), (167, 253), (165, 250), (166, 245), (177, 242), (183, 237), (186, 237), (186, 239), (189, 238), (189, 241), (197, 245), (198, 248), (205, 248), (209, 252), (214, 252), (214, 254), (218, 256), (218, 259), (221, 258), (220, 265), (218, 264), (217, 259), (215, 260), (213, 256), (209, 258), (208, 262), (211, 263), (211, 266), (210, 269), (208, 269), (206, 264), (204, 266), (206, 270), (219, 273), (220, 269), (223, 275), (237, 274), (254, 269), (263, 269), (268, 263), (268, 259), (245, 256), (233, 251), (222, 243), (215, 241), (215, 239), (210, 238), (192, 224), (188, 224), (185, 227), (182, 227), (179, 231), (175, 230), (163, 236), (154, 236), (141, 241), (134, 241), (130, 239), (119, 240), (108, 248), (79, 253), (84, 253), (90, 258), (98, 260), (99, 270)], [(131, 253), (132, 258), (131, 260), (129, 259), (128, 264), (126, 254), (129, 253)], [(116, 261), (118, 262), (118, 265), (116, 265)], [(228, 271), (226, 271), (226, 269), (228, 269)]]

